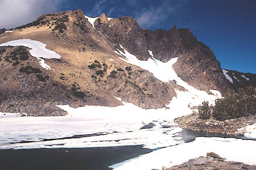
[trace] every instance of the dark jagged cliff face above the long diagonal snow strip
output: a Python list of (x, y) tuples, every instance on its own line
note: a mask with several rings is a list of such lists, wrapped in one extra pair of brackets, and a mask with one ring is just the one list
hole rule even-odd
[(148, 50), (163, 62), (179, 57), (174, 65), (176, 73), (199, 90), (216, 89), (225, 94), (226, 88), (233, 88), (212, 50), (199, 42), (189, 29), (177, 29), (175, 25), (169, 31), (141, 29), (134, 18), (126, 16), (105, 22), (99, 18), (94, 24), (110, 41), (121, 44), (139, 59), (150, 58)]

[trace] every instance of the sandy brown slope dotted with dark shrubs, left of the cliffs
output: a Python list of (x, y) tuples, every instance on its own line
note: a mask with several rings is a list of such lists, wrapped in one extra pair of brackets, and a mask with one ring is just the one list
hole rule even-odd
[[(45, 70), (27, 48), (22, 48), (27, 60), (20, 59), (17, 47), (1, 48), (2, 112), (56, 116), (65, 114), (56, 104), (72, 107), (122, 104), (114, 96), (142, 108), (162, 108), (176, 95), (174, 87), (182, 89), (119, 59), (113, 42), (96, 31), (81, 10), (42, 15), (30, 24), (0, 35), (0, 43), (17, 39), (43, 42), (60, 54), (61, 59), (46, 59), (52, 69)], [(28, 66), (40, 70), (39, 73), (20, 72), (21, 67)]]

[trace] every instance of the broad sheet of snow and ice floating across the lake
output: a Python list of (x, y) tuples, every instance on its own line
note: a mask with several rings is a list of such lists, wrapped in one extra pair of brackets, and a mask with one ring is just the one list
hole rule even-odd
[[(174, 134), (182, 129), (174, 118), (187, 112), (168, 112), (168, 109), (142, 109), (131, 103), (118, 107), (86, 105), (71, 108), (59, 105), (68, 112), (65, 117), (0, 118), (0, 148), (49, 147), (109, 147), (143, 145), (159, 148), (183, 143)], [(121, 114), (122, 113), (122, 114)], [(148, 124), (152, 128), (143, 129)], [(17, 126), (18, 125), (18, 126)], [(169, 128), (163, 128), (168, 126)], [(38, 128), (40, 127), (40, 129)], [(6, 134), (6, 135), (2, 135)], [(75, 139), (54, 139), (73, 135), (101, 134)], [(16, 143), (31, 141), (29, 143)], [(40, 142), (35, 142), (40, 141)], [(60, 145), (61, 144), (61, 145)]]

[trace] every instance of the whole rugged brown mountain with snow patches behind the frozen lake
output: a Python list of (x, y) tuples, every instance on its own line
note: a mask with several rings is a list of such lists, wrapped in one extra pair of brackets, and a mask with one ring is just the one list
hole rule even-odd
[(1, 32), (1, 112), (62, 116), (57, 105), (115, 107), (117, 97), (143, 109), (172, 109), (175, 98), (193, 107), (227, 88), (255, 87), (255, 74), (222, 70), (209, 46), (175, 25), (151, 31), (132, 17), (77, 10)]

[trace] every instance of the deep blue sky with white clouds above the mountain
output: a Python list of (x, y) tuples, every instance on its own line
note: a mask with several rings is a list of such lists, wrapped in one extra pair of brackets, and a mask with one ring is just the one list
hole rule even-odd
[[(14, 9), (15, 2), (19, 9)], [(256, 73), (256, 1), (254, 0), (0, 0), (0, 27), (25, 24), (44, 13), (77, 10), (88, 16), (133, 16), (141, 28), (189, 28), (210, 46), (221, 67)], [(1, 14), (2, 11), (2, 14)], [(9, 11), (15, 11), (8, 14)], [(22, 14), (19, 14), (22, 12)], [(15, 15), (15, 14), (16, 15)], [(25, 14), (24, 14), (25, 13)], [(2, 19), (1, 19), (2, 15)], [(19, 17), (22, 18), (19, 19)], [(26, 19), (24, 19), (26, 18)], [(3, 19), (6, 19), (3, 24)], [(13, 19), (13, 20), (12, 20)], [(17, 20), (15, 22), (15, 19)], [(22, 23), (24, 22), (24, 23)]]

